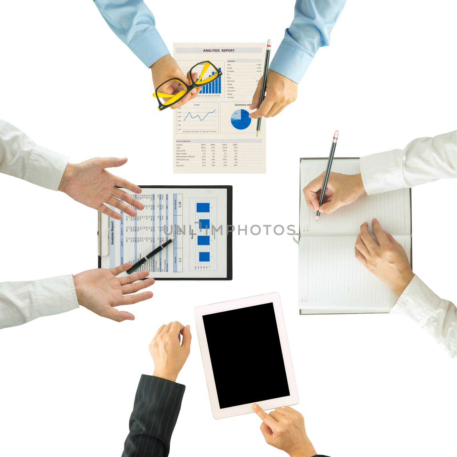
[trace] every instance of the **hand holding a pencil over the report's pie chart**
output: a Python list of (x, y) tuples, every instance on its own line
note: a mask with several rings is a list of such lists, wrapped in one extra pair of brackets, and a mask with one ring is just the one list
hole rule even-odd
[(262, 90), (262, 78), (257, 84), (252, 103), (249, 107), (250, 110), (257, 111), (250, 113), (249, 117), (257, 119), (258, 117), (272, 117), (282, 112), (282, 110), (292, 101), (297, 100), (298, 84), (276, 71), (268, 70), (266, 78), (266, 94), (259, 107), (260, 92)]

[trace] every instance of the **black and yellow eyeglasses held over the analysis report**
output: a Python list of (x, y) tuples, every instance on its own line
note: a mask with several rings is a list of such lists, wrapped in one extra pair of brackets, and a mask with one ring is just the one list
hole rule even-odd
[[(192, 73), (197, 73), (197, 78), (194, 81)], [(165, 110), (169, 106), (178, 103), (186, 94), (196, 87), (205, 86), (222, 76), (222, 71), (216, 68), (209, 60), (199, 62), (194, 65), (189, 71), (191, 85), (186, 84), (179, 78), (163, 82), (155, 90), (153, 96), (159, 101), (159, 111)]]

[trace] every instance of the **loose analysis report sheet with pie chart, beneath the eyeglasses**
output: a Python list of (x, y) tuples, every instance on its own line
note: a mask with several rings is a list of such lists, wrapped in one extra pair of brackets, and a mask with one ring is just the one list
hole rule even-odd
[(174, 173), (266, 173), (266, 122), (256, 137), (257, 120), (249, 117), (265, 53), (265, 43), (174, 43), (184, 74), (205, 60), (222, 71), (174, 110)]

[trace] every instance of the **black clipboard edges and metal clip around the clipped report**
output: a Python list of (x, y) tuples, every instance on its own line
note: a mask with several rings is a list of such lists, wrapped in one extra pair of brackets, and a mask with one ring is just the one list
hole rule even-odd
[[(227, 191), (227, 227), (233, 226), (233, 187), (232, 186), (138, 186), (142, 189), (226, 189)], [(121, 188), (121, 187), (119, 187)], [(110, 255), (110, 218), (106, 214), (98, 213), (98, 268), (102, 268), (102, 257)], [(227, 230), (227, 264), (225, 277), (155, 277), (156, 281), (230, 281), (233, 279), (233, 237), (232, 232)]]

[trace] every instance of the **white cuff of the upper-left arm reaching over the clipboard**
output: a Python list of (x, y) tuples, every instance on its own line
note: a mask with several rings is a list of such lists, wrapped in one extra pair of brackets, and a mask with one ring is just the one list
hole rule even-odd
[(36, 144), (30, 154), (24, 180), (57, 191), (68, 161), (68, 157)]

